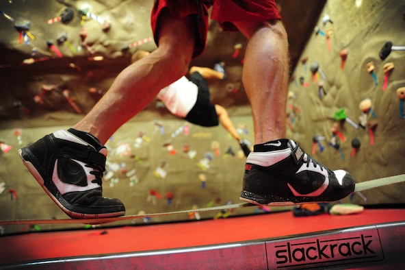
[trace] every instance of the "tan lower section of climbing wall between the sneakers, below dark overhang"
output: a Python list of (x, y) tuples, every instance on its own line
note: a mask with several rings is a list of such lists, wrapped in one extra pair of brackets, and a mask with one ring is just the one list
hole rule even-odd
[[(252, 140), (250, 116), (236, 116), (232, 120), (241, 136)], [(68, 126), (18, 129), (18, 132), (1, 130), (2, 140), (8, 142), (1, 156), (1, 219), (66, 218), (25, 169), (16, 151), (42, 134), (62, 128)], [(119, 197), (127, 214), (171, 212), (239, 201), (246, 158), (239, 144), (222, 127), (205, 128), (177, 119), (133, 121), (123, 125), (105, 146), (108, 156), (103, 195)], [(246, 210), (238, 210), (237, 214), (259, 211)], [(230, 214), (234, 213), (190, 212), (133, 223), (223, 218)], [(5, 229), (14, 232), (84, 226), (7, 226)]]

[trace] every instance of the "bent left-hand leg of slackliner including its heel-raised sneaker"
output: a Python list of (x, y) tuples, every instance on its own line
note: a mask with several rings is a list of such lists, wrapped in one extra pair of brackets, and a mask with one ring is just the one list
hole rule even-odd
[(74, 128), (53, 132), (19, 150), (27, 169), (68, 216), (88, 219), (125, 214), (120, 200), (103, 197), (107, 156), (103, 145), (161, 88), (187, 72), (194, 51), (194, 22), (192, 16), (173, 19), (164, 9), (159, 16), (158, 49), (122, 71)]

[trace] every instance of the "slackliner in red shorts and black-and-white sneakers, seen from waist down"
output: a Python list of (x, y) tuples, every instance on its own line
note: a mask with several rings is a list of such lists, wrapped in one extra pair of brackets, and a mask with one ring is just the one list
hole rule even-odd
[(205, 49), (209, 14), (225, 31), (239, 30), (248, 39), (242, 82), (252, 106), (254, 147), (246, 159), (239, 198), (286, 206), (337, 201), (354, 191), (350, 173), (328, 169), (286, 138), (288, 41), (274, 0), (155, 0), (151, 23), (157, 49), (121, 71), (72, 128), (19, 150), (27, 169), (68, 216), (125, 214), (122, 201), (103, 197), (103, 145), (159, 90), (187, 73), (192, 58)]

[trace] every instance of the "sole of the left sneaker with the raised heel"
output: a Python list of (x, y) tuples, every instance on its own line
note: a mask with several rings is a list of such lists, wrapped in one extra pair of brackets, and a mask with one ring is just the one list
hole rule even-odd
[(23, 149), (18, 149), (18, 156), (20, 156), (21, 160), (23, 160), (23, 163), (25, 167), (27, 167), (28, 171), (31, 173), (32, 176), (34, 176), (36, 182), (40, 184), (42, 189), (47, 193), (49, 197), (59, 206), (62, 211), (64, 211), (69, 217), (72, 219), (98, 219), (98, 218), (104, 218), (104, 217), (120, 217), (125, 215), (125, 211), (120, 211), (120, 212), (113, 212), (113, 213), (106, 213), (106, 214), (83, 214), (79, 212), (73, 212), (71, 210), (68, 210), (63, 204), (60, 203), (60, 201), (51, 193), (51, 191), (48, 190), (47, 186), (45, 186), (44, 179), (40, 175), (40, 173), (37, 171), (36, 167), (34, 167), (34, 164), (29, 162), (28, 160), (25, 160), (23, 158)]

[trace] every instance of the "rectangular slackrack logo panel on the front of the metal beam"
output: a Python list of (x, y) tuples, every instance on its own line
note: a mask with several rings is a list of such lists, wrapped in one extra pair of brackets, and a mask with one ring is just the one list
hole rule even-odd
[(274, 268), (344, 265), (384, 258), (378, 232), (373, 230), (308, 236), (267, 245), (270, 245), (268, 257)]

